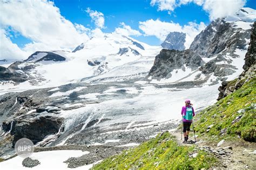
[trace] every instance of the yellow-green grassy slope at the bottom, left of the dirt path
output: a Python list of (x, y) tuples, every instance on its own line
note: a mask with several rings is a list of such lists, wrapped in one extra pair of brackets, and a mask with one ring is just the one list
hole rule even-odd
[[(198, 153), (195, 158), (193, 153)], [(213, 166), (216, 161), (212, 154), (196, 151), (194, 146), (178, 145), (169, 132), (164, 132), (92, 169), (201, 169)]]

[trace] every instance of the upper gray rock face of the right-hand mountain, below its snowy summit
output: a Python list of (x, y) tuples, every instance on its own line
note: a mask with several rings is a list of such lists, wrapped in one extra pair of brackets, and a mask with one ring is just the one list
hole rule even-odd
[(235, 49), (245, 49), (245, 38), (250, 38), (250, 30), (235, 28), (232, 23), (218, 18), (194, 38), (190, 50), (201, 57), (212, 57), (224, 49), (233, 53)]

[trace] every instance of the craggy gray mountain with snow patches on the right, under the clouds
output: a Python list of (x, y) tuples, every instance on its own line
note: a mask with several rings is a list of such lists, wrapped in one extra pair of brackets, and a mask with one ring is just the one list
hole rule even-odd
[[(216, 19), (194, 38), (187, 52), (160, 52), (149, 76), (161, 79), (153, 81), (159, 83), (201, 80), (214, 84), (237, 78), (243, 71), (252, 21), (256, 21), (256, 13), (248, 8), (242, 8), (234, 16)], [(195, 57), (196, 60), (185, 62), (187, 58)]]

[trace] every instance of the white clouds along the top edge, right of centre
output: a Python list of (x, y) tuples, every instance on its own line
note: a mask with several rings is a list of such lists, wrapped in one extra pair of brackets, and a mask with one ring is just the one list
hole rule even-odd
[(157, 5), (160, 11), (167, 10), (168, 13), (171, 13), (178, 6), (188, 3), (202, 6), (209, 13), (210, 19), (213, 20), (233, 15), (245, 5), (246, 0), (151, 0), (150, 4), (152, 6)]

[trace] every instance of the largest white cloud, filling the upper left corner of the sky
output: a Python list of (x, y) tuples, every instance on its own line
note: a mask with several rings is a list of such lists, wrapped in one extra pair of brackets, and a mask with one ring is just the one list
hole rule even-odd
[[(10, 26), (22, 36), (32, 40), (32, 43), (26, 44), (24, 49), (20, 50), (29, 53), (36, 50), (70, 50), (89, 39), (85, 33), (86, 28), (83, 25), (74, 25), (65, 19), (53, 2), (8, 0), (0, 3), (1, 28), (7, 29)], [(6, 38), (8, 39), (5, 36)], [(11, 58), (21, 59), (22, 56), (18, 55), (21, 51), (17, 48), (14, 50), (16, 52), (12, 52)], [(6, 54), (1, 53), (1, 58), (10, 58)]]

